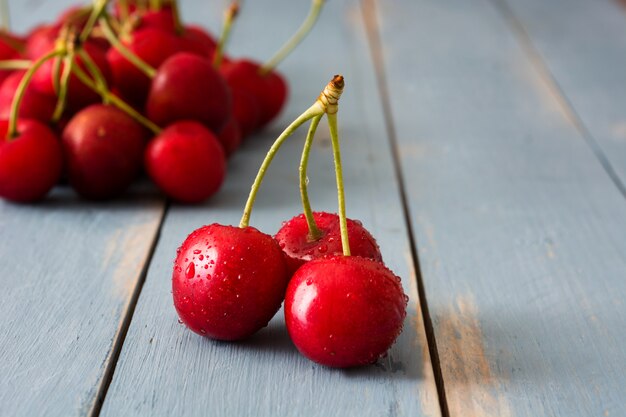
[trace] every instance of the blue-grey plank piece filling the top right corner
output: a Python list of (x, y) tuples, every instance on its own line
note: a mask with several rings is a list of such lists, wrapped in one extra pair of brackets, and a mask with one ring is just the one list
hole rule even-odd
[[(626, 13), (614, 0), (505, 3), (626, 194)], [(586, 30), (584, 28), (590, 28)], [(609, 166), (610, 165), (610, 166)]]

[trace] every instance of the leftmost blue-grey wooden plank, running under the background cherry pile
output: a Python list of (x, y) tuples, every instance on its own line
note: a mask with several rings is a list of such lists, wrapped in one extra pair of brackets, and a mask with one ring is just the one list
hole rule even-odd
[[(21, 32), (70, 2), (27, 3), (10, 4)], [(94, 408), (163, 207), (141, 187), (102, 204), (67, 187), (40, 204), (0, 201), (0, 416)]]

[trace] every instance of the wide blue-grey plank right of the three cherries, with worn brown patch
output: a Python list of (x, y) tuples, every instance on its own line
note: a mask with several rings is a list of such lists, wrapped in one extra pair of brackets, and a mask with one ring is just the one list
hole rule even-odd
[(626, 414), (623, 196), (493, 3), (376, 3), (450, 416)]

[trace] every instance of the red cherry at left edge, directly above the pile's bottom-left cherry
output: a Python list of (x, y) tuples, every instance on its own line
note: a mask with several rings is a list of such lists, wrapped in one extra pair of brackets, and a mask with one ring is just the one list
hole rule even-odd
[[(15, 92), (25, 72), (13, 72), (0, 86), (0, 119), (9, 119)], [(56, 101), (56, 97), (43, 94), (28, 85), (20, 102), (18, 115), (22, 119), (35, 119), (48, 123), (54, 113)]]

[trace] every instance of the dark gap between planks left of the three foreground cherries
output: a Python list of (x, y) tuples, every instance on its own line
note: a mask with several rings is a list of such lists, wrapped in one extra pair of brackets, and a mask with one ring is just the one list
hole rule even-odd
[(146, 261), (144, 262), (141, 273), (139, 274), (139, 280), (137, 281), (135, 290), (133, 291), (133, 294), (128, 303), (128, 309), (126, 310), (126, 314), (122, 319), (120, 329), (113, 338), (109, 363), (104, 370), (102, 381), (100, 383), (100, 387), (98, 388), (98, 392), (96, 393), (93, 406), (91, 410), (89, 410), (89, 412), (87, 413), (87, 416), (89, 417), (98, 417), (100, 415), (100, 411), (102, 410), (104, 399), (106, 398), (107, 392), (109, 391), (109, 386), (111, 386), (111, 382), (113, 381), (113, 374), (115, 374), (117, 361), (119, 360), (120, 353), (122, 352), (122, 347), (124, 346), (124, 342), (126, 341), (126, 335), (128, 334), (130, 322), (132, 321), (133, 315), (135, 314), (135, 308), (137, 307), (137, 303), (139, 302), (139, 296), (141, 295), (143, 284), (146, 282), (148, 268), (152, 263), (152, 257), (154, 256), (157, 244), (159, 243), (159, 240), (161, 238), (161, 229), (163, 228), (163, 224), (165, 224), (165, 218), (167, 217), (170, 205), (171, 202), (169, 199), (164, 202), (161, 219), (159, 220), (159, 226), (157, 227), (154, 239), (152, 240), (152, 244), (150, 245), (150, 249), (148, 250), (148, 254), (146, 255)]

